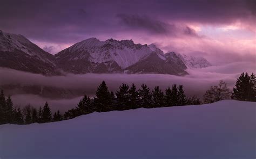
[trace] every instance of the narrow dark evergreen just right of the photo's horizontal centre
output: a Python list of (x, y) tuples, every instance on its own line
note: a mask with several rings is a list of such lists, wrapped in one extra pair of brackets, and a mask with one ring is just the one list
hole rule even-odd
[(132, 83), (132, 86), (129, 90), (129, 105), (130, 109), (136, 109), (139, 107), (139, 93), (136, 89), (136, 86)]

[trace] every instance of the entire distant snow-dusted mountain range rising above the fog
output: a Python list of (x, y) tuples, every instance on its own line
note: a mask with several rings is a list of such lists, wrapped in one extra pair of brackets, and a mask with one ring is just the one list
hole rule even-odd
[(56, 55), (45, 52), (23, 37), (0, 31), (0, 67), (43, 75), (66, 73), (126, 73), (186, 75), (187, 68), (211, 64), (203, 57), (164, 54), (154, 44), (134, 44), (132, 40), (99, 41), (90, 38)]

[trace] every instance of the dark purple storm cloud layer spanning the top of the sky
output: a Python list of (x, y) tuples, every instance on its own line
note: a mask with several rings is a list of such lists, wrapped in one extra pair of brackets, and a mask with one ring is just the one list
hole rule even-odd
[[(0, 30), (44, 41), (77, 42), (103, 33), (122, 33), (117, 23), (121, 19), (132, 26), (128, 31), (145, 29), (164, 34), (171, 30), (169, 21), (228, 24), (241, 20), (252, 24), (255, 6), (255, 1), (10, 0), (1, 1)], [(185, 28), (184, 33), (192, 32)]]

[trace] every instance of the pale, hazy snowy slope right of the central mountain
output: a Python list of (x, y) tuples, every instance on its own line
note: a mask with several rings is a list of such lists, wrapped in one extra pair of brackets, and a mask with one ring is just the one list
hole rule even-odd
[(195, 57), (174, 52), (169, 53), (176, 54), (186, 64), (188, 68), (205, 68), (212, 66), (212, 64), (208, 62), (204, 57)]

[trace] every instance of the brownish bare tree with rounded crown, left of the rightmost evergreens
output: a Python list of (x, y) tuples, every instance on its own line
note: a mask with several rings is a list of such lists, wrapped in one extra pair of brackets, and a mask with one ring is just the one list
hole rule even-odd
[(227, 88), (226, 82), (220, 80), (218, 85), (211, 86), (209, 90), (205, 92), (204, 102), (213, 103), (219, 100), (230, 99), (231, 91)]

